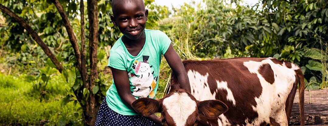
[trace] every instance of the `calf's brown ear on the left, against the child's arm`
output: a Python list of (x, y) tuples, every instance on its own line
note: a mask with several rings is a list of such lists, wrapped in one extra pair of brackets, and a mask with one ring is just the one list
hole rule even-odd
[(132, 103), (133, 109), (142, 116), (150, 116), (159, 110), (159, 101), (150, 98), (140, 98)]

